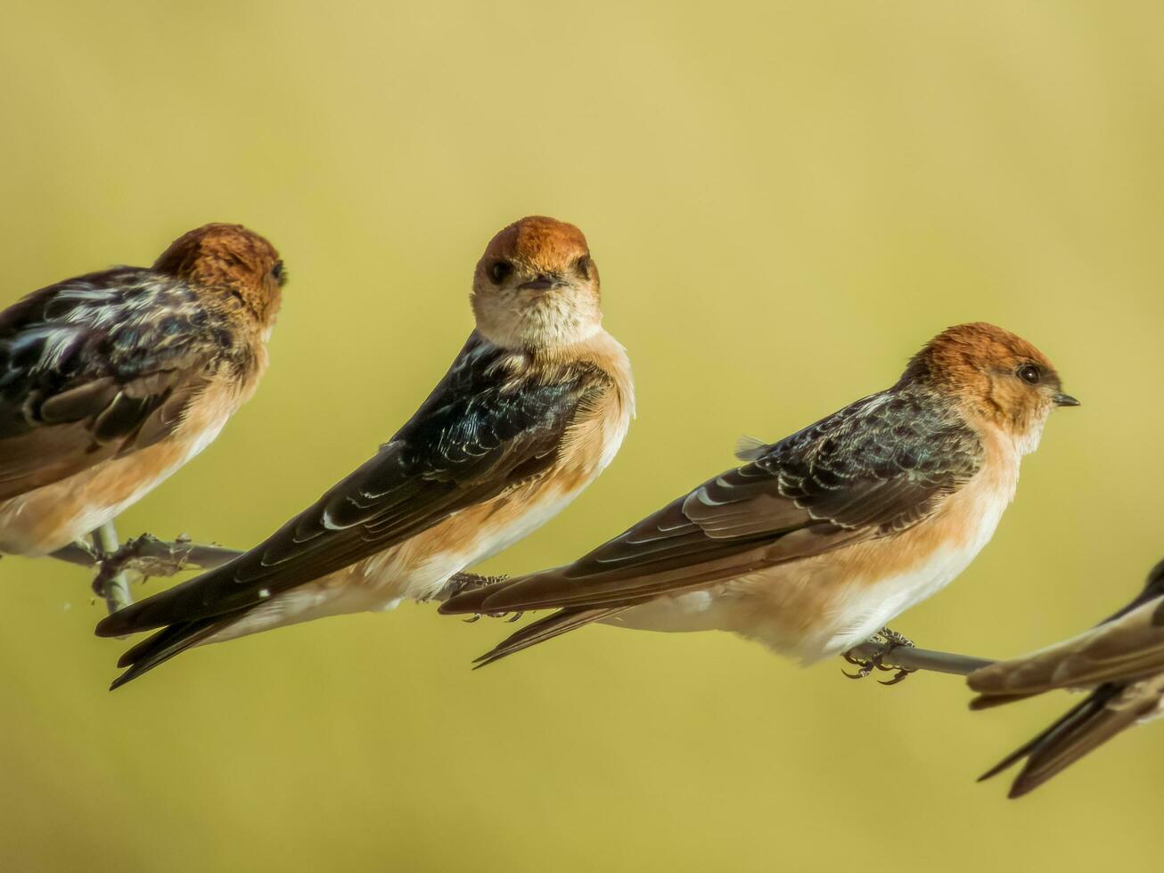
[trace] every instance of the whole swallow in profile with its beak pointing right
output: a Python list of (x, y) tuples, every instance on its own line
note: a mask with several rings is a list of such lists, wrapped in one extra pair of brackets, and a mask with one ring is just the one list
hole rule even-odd
[(744, 440), (743, 466), (575, 562), (463, 590), (440, 611), (558, 610), (478, 666), (594, 622), (726, 630), (802, 663), (879, 629), (908, 643), (883, 626), (970, 565), (1051, 410), (1078, 403), (1025, 340), (950, 327), (888, 390), (779, 442)]

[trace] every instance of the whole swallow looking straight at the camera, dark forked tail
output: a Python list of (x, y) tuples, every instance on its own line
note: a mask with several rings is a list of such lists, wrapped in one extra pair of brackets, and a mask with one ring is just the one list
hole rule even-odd
[(602, 473), (634, 390), (582, 232), (541, 215), (499, 230), (471, 306), (448, 372), (370, 460), (249, 552), (98, 625), (161, 629), (122, 655), (113, 688), (197, 644), (443, 596)]

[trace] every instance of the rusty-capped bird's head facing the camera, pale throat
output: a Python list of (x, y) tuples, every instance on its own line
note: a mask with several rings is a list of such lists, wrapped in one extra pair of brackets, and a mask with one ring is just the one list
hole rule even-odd
[(531, 215), (498, 232), (473, 275), (477, 331), (509, 349), (555, 349), (602, 325), (598, 268), (574, 225)]

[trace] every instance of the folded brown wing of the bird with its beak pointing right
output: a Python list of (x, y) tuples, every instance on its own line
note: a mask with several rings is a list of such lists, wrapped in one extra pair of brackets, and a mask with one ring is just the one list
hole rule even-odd
[[(882, 537), (932, 514), (978, 470), (982, 447), (931, 398), (888, 391), (753, 454), (575, 563), (468, 591), (441, 611), (562, 608), (572, 630), (584, 624), (580, 610), (627, 608)], [(538, 641), (555, 636), (547, 622)]]

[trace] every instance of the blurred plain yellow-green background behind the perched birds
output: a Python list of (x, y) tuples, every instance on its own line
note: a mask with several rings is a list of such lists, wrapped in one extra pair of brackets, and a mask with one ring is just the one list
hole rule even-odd
[[(576, 222), (639, 419), (508, 572), (999, 322), (1084, 406), (897, 626), (1016, 654), (1164, 554), (1162, 28), (1154, 2), (7, 2), (0, 303), (204, 221), (268, 234), (292, 283), (262, 390), (122, 521), (249, 545), (416, 407), (498, 227)], [(1066, 696), (971, 715), (956, 677), (605, 627), (470, 673), (509, 629), (414, 605), (109, 695), (102, 611), (81, 572), (0, 562), (6, 870), (1076, 871), (1164, 843), (1159, 728), (1022, 802), (974, 783)]]

